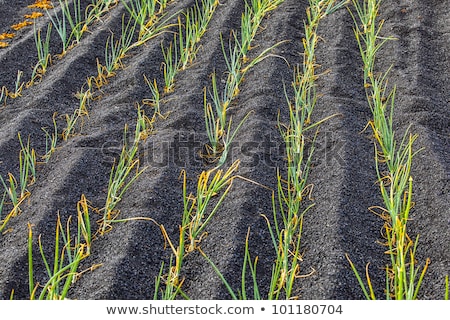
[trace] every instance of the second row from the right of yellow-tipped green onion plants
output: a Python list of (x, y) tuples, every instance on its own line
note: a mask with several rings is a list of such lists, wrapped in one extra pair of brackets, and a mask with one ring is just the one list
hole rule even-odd
[[(264, 3), (267, 8), (271, 8), (269, 3)], [(309, 3), (307, 21), (304, 24), (305, 34), (309, 36), (303, 41), (305, 51), (303, 63), (293, 72), (293, 98), (291, 99), (286, 93), (289, 123), (286, 125), (280, 123), (279, 125), (280, 133), (285, 142), (287, 176), (283, 176), (281, 170), (278, 169), (277, 190), (272, 195), (273, 221), (270, 222), (266, 216), (263, 216), (267, 222), (276, 254), (267, 293), (267, 299), (269, 300), (295, 298), (294, 284), (298, 278), (304, 276), (300, 274), (303, 216), (314, 206), (314, 203), (310, 200), (312, 185), (308, 180), (317, 136), (317, 130), (313, 129), (317, 129), (321, 123), (332, 117), (326, 117), (315, 123), (310, 123), (309, 120), (317, 100), (314, 89), (318, 77), (314, 73), (314, 67), (316, 67), (315, 48), (319, 38), (317, 29), (319, 22), (327, 15), (342, 8), (345, 1), (310, 0)], [(255, 1), (253, 6), (258, 7), (259, 4), (261, 2)], [(243, 18), (243, 21), (250, 24), (249, 19)], [(307, 140), (310, 142), (309, 147), (306, 143)], [(252, 279), (252, 298), (262, 299), (256, 274), (258, 259), (250, 257), (248, 235), (245, 243), (241, 289), (237, 292), (231, 288), (217, 266), (206, 255), (204, 256), (219, 275), (233, 299), (247, 299), (247, 273), (250, 274)]]

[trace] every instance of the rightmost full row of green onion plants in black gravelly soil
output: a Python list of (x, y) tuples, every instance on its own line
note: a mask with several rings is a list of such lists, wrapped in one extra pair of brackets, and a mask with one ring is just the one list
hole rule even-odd
[[(417, 265), (416, 250), (418, 236), (413, 241), (407, 234), (410, 220), (413, 179), (411, 177), (413, 143), (417, 135), (409, 128), (401, 140), (394, 132), (393, 116), (395, 106), (395, 86), (388, 88), (389, 69), (377, 75), (375, 61), (377, 53), (386, 41), (392, 39), (381, 35), (383, 21), (379, 21), (381, 0), (353, 0), (355, 14), (354, 33), (364, 64), (364, 87), (373, 119), (369, 122), (375, 142), (375, 164), (384, 207), (371, 208), (384, 221), (384, 236), (388, 246), (390, 265), (386, 267), (386, 299), (417, 299), (422, 280), (429, 265)], [(375, 291), (366, 270), (367, 286), (356, 267), (347, 256), (367, 299), (376, 299)]]

